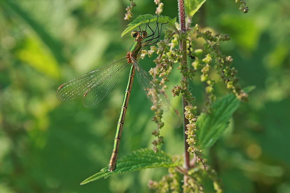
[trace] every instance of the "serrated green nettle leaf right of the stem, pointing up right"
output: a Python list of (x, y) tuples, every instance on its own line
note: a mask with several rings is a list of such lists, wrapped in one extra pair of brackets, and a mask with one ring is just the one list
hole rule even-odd
[[(254, 89), (255, 86), (248, 86), (243, 90), (248, 93)], [(197, 138), (200, 139), (200, 142), (197, 144), (198, 148), (205, 149), (213, 146), (229, 126), (229, 120), (240, 104), (241, 101), (235, 95), (228, 94), (213, 103), (212, 114), (200, 114), (196, 122), (200, 128), (196, 132)]]

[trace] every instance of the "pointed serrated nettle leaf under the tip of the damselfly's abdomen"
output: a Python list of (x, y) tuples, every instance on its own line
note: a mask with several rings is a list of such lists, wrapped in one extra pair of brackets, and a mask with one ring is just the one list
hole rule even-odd
[(170, 168), (175, 167), (178, 164), (178, 162), (173, 162), (171, 155), (164, 153), (164, 151), (154, 153), (151, 149), (139, 149), (130, 155), (119, 159), (117, 162), (117, 168), (114, 172), (108, 172), (108, 167), (103, 168), (100, 172), (85, 179), (81, 185), (103, 177), (107, 178), (109, 176), (126, 174), (146, 168)]

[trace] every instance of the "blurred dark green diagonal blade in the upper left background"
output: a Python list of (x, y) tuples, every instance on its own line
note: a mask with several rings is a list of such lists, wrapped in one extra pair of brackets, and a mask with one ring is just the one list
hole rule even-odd
[(16, 1), (1, 1), (1, 7), (8, 12), (12, 10), (21, 19), (23, 19), (41, 38), (41, 40), (50, 48), (55, 58), (59, 63), (66, 62), (62, 53), (62, 44), (55, 40), (50, 34), (41, 26), (34, 18), (30, 16), (25, 10), (23, 10), (18, 4), (14, 3)]

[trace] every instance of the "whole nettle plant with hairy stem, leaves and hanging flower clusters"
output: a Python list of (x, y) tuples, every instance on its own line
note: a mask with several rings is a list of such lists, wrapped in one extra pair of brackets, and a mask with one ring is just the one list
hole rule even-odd
[[(142, 50), (140, 59), (153, 54), (158, 56), (153, 60), (156, 63), (151, 68), (149, 74), (152, 76), (155, 94), (160, 90), (165, 92), (168, 89), (166, 82), (169, 81), (171, 70), (180, 70), (180, 84), (171, 89), (172, 96), (182, 96), (184, 107), (184, 141), (185, 153), (183, 155), (170, 155), (164, 151), (159, 151), (158, 146), (164, 143), (165, 139), (160, 135), (160, 129), (164, 126), (162, 122), (163, 111), (160, 105), (155, 104), (151, 107), (155, 115), (152, 118), (157, 124), (157, 128), (152, 131), (152, 135), (157, 137), (152, 142), (153, 149), (140, 149), (118, 160), (117, 168), (114, 172), (108, 172), (108, 167), (103, 168), (97, 174), (84, 180), (81, 184), (86, 184), (100, 178), (113, 175), (121, 175), (146, 168), (168, 168), (169, 174), (164, 176), (161, 181), (149, 181), (148, 186), (156, 192), (204, 192), (202, 178), (208, 176), (213, 181), (216, 192), (222, 192), (222, 183), (218, 174), (211, 168), (203, 158), (203, 149), (210, 148), (221, 137), (224, 130), (229, 125), (229, 120), (233, 113), (238, 109), (241, 101), (248, 101), (248, 94), (254, 89), (253, 86), (241, 89), (239, 79), (236, 77), (237, 70), (231, 67), (233, 59), (231, 56), (223, 55), (219, 50), (219, 42), (228, 41), (228, 34), (215, 34), (211, 31), (200, 31), (198, 24), (192, 26), (191, 20), (194, 14), (206, 0), (178, 1), (179, 23), (177, 17), (169, 18), (161, 16), (164, 6), (160, 0), (154, 2), (158, 5), (156, 14), (145, 14), (138, 16), (123, 31), (121, 36), (128, 32), (146, 25), (149, 22), (166, 23), (164, 26), (165, 37), (152, 45), (150, 50)], [(240, 10), (248, 12), (246, 1), (236, 0), (240, 3)], [(133, 18), (133, 8), (136, 3), (131, 1), (131, 5), (126, 8), (125, 20)], [(157, 24), (158, 25), (158, 24)], [(140, 28), (141, 31), (141, 28)], [(202, 38), (204, 49), (193, 49), (193, 38)], [(147, 48), (148, 49), (148, 48)], [(189, 59), (190, 58), (190, 59)], [(189, 61), (191, 60), (191, 65)], [(210, 76), (210, 71), (214, 68), (220, 81), (226, 84), (231, 91), (230, 94), (217, 99), (214, 93), (215, 80)], [(202, 113), (197, 116), (197, 107), (194, 105), (195, 97), (190, 91), (190, 82), (193, 80), (197, 71), (201, 72), (201, 82), (206, 83), (205, 93), (207, 100)], [(154, 98), (154, 96), (153, 96)]]

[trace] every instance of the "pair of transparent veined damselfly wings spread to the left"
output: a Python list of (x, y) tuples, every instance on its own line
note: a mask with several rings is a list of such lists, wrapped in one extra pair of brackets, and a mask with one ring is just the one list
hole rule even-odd
[[(123, 57), (119, 60), (110, 62), (100, 69), (93, 70), (89, 73), (76, 77), (62, 84), (57, 89), (57, 99), (61, 101), (68, 101), (85, 95), (84, 98), (87, 99), (84, 99), (84, 101), (87, 101), (88, 99), (93, 101), (90, 103), (84, 102), (86, 107), (96, 105), (112, 90), (119, 79), (121, 71), (127, 65), (127, 59), (126, 57)], [(98, 93), (95, 93), (95, 90), (98, 91)]]

